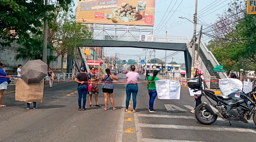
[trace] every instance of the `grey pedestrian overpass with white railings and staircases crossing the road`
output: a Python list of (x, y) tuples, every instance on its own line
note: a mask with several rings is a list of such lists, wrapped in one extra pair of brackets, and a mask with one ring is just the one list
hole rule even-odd
[[(192, 64), (191, 39), (178, 36), (154, 36), (153, 42), (140, 42), (139, 39), (140, 35), (134, 34), (94, 33), (93, 40), (89, 42), (82, 42), (80, 47), (132, 47), (184, 52), (186, 75), (187, 78), (190, 78)], [(197, 45), (198, 43), (196, 43), (196, 49)], [(82, 49), (80, 48), (79, 51), (83, 61), (86, 62), (86, 57), (83, 55), (84, 53), (81, 53)], [(196, 54), (197, 51), (195, 51), (195, 55)], [(201, 61), (200, 68), (204, 71), (204, 76), (218, 76), (216, 72), (213, 72), (213, 67), (219, 65), (219, 63), (202, 42), (200, 43), (200, 50), (198, 54), (198, 60)], [(226, 77), (225, 73), (220, 73), (220, 77), (217, 77), (217, 79)], [(206, 85), (208, 87), (211, 86), (211, 88), (217, 88), (217, 85), (211, 82), (207, 82)]]

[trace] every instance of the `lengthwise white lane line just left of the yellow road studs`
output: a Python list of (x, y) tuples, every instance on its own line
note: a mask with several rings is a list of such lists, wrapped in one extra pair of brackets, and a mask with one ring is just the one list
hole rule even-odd
[[(123, 95), (122, 106), (125, 106), (125, 95)], [(119, 117), (118, 128), (117, 128), (116, 142), (122, 142), (123, 125), (124, 125), (124, 109), (125, 108), (121, 108), (121, 114)]]

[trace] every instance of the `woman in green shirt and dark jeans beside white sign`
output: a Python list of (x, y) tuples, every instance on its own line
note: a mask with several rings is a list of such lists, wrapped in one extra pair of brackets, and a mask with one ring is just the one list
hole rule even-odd
[[(154, 101), (157, 96), (156, 83), (155, 81), (159, 80), (157, 77), (157, 70), (153, 71), (153, 76), (148, 77), (148, 93), (149, 93), (149, 112), (157, 112), (154, 110)], [(150, 82), (152, 81), (152, 82)]]

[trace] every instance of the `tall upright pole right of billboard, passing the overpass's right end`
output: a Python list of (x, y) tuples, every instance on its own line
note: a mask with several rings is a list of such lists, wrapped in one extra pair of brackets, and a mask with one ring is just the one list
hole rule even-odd
[(195, 14), (194, 14), (194, 34), (193, 34), (193, 46), (192, 46), (192, 65), (191, 65), (191, 77), (194, 75), (194, 62), (195, 62), (195, 34), (196, 34), (196, 16), (197, 16), (197, 0), (195, 0)]

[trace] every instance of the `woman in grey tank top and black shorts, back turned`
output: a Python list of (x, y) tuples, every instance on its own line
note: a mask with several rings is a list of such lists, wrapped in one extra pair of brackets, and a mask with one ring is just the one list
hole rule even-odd
[(101, 78), (101, 82), (106, 82), (102, 85), (102, 92), (104, 93), (104, 103), (105, 108), (107, 110), (107, 99), (109, 94), (110, 102), (113, 106), (113, 110), (116, 110), (113, 99), (114, 86), (112, 84), (113, 80), (118, 80), (118, 78), (110, 73), (110, 69), (105, 69), (105, 74)]

